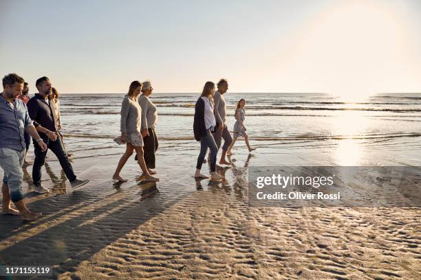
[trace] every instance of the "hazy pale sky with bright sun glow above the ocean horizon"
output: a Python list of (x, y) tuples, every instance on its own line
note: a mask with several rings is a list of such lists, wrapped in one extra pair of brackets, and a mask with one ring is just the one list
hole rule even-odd
[(418, 0), (0, 1), (0, 74), (62, 93), (421, 92)]

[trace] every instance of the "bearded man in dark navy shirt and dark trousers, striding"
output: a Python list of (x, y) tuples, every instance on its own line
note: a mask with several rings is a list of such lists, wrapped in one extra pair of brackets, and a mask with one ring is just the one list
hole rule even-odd
[[(47, 77), (39, 78), (36, 80), (35, 86), (39, 93), (36, 93), (28, 102), (28, 112), (31, 119), (34, 120), (34, 126), (44, 142), (47, 143), (47, 147), (56, 154), (67, 179), (70, 181), (70, 185), (72, 185), (73, 188), (81, 187), (88, 183), (89, 180), (79, 180), (76, 178), (73, 167), (67, 158), (61, 137), (58, 137), (56, 132), (54, 114), (50, 106), (51, 101), (48, 98), (52, 95), (52, 84), (50, 79)], [(35, 161), (32, 168), (32, 180), (34, 180), (36, 188), (48, 191), (48, 189), (41, 185), (41, 167), (45, 163), (47, 151), (42, 151), (37, 145), (34, 145), (34, 147)]]

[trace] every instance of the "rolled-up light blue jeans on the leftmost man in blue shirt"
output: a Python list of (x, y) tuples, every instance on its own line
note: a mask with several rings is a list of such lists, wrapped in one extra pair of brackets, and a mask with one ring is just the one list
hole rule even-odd
[(4, 170), (3, 183), (9, 186), (10, 200), (18, 202), (23, 198), (22, 165), (25, 150), (17, 151), (10, 148), (0, 148), (0, 165)]

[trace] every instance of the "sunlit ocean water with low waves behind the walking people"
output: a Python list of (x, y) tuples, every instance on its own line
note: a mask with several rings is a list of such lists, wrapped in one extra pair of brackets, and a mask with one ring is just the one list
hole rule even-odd
[[(125, 94), (63, 94), (66, 149), (75, 159), (116, 155), (124, 147), (120, 104)], [(177, 153), (195, 162), (194, 106), (199, 93), (153, 93), (158, 107), (158, 156)], [(421, 165), (421, 93), (377, 94), (347, 101), (325, 93), (226, 93), (227, 124), (247, 100), (246, 125), (258, 165)], [(244, 141), (233, 149), (247, 154)], [(233, 158), (235, 158), (235, 154)], [(160, 159), (164, 161), (164, 158)]]

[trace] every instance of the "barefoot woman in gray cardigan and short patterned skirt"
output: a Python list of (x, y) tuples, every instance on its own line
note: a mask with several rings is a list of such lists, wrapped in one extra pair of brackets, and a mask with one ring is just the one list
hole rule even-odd
[(138, 81), (133, 81), (129, 87), (129, 93), (125, 96), (125, 99), (121, 104), (121, 121), (120, 130), (121, 136), (114, 139), (119, 144), (126, 143), (126, 152), (122, 155), (118, 162), (116, 172), (114, 172), (113, 179), (120, 182), (127, 182), (127, 180), (120, 177), (122, 167), (125, 166), (127, 159), (133, 154), (133, 150), (136, 150), (138, 155), (138, 163), (146, 180), (158, 181), (158, 178), (151, 176), (148, 172), (146, 163), (143, 159), (143, 139), (140, 133), (140, 119), (142, 117), (142, 108), (138, 103), (138, 95), (142, 90), (142, 84)]

